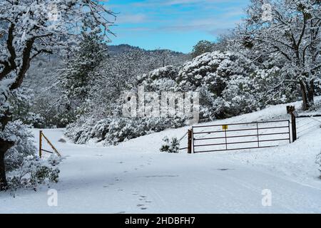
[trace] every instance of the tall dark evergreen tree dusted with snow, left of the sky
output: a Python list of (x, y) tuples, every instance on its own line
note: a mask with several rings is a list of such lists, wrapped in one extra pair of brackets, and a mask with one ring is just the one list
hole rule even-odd
[[(63, 96), (58, 105), (66, 108), (68, 113), (86, 112), (86, 100), (98, 77), (98, 67), (107, 58), (107, 46), (103, 43), (101, 28), (93, 26), (92, 21), (85, 19), (81, 29), (81, 41), (68, 53), (64, 68), (58, 70), (58, 86)], [(74, 118), (71, 116), (69, 123)]]

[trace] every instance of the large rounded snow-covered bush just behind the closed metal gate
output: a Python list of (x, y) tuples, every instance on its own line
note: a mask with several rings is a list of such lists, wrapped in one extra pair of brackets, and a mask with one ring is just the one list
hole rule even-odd
[(175, 90), (200, 93), (200, 119), (228, 118), (295, 100), (280, 69), (261, 69), (238, 53), (214, 51), (185, 63)]

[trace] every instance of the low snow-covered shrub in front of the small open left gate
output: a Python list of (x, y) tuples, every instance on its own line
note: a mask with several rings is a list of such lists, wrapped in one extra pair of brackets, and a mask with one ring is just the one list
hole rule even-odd
[(60, 170), (57, 165), (60, 162), (61, 157), (56, 155), (51, 155), (48, 160), (40, 160), (34, 155), (24, 157), (20, 167), (9, 173), (9, 189), (36, 189), (38, 185), (58, 182)]

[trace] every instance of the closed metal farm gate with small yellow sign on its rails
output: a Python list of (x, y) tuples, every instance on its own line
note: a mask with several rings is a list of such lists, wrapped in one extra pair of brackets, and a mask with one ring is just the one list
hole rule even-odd
[(190, 135), (193, 135), (191, 141), (195, 153), (257, 149), (275, 147), (280, 142), (291, 143), (290, 120), (195, 126)]

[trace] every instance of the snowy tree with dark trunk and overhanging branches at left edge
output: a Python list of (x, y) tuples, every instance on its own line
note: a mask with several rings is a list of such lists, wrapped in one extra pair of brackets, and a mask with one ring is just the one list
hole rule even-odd
[(0, 0), (0, 190), (7, 185), (4, 155), (14, 146), (9, 95), (21, 86), (36, 56), (77, 42), (80, 21), (102, 28), (108, 39), (113, 17), (99, 0)]

